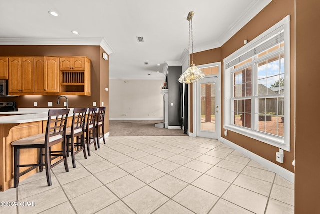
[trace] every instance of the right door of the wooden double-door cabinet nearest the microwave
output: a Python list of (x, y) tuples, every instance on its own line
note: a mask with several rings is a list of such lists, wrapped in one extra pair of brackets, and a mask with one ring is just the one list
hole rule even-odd
[(22, 92), (32, 93), (34, 92), (34, 65), (33, 57), (21, 58), (21, 86)]

